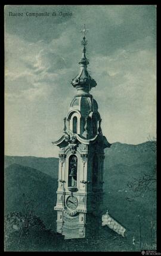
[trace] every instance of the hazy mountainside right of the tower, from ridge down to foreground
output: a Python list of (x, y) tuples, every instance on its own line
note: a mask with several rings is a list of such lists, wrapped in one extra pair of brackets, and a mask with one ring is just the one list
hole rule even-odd
[(129, 190), (128, 182), (139, 179), (143, 174), (151, 174), (156, 165), (154, 146), (149, 141), (138, 145), (113, 143), (110, 149), (105, 150), (104, 205), (135, 238), (139, 231), (138, 215), (146, 232), (151, 219), (156, 220), (156, 192), (146, 191), (130, 202), (126, 198), (134, 193)]

